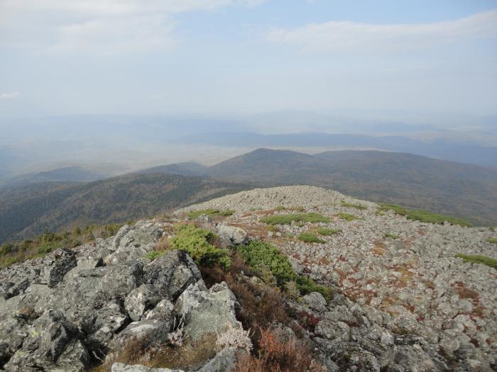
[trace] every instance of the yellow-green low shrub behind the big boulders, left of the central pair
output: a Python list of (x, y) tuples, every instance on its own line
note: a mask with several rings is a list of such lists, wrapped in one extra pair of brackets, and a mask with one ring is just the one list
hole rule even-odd
[(219, 264), (228, 270), (231, 261), (226, 249), (214, 247), (217, 235), (195, 225), (180, 224), (175, 227), (175, 235), (169, 239), (170, 249), (182, 249), (199, 265), (213, 266)]

